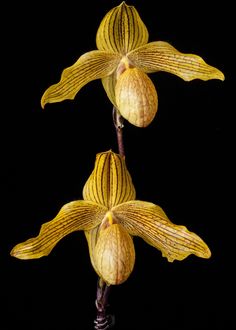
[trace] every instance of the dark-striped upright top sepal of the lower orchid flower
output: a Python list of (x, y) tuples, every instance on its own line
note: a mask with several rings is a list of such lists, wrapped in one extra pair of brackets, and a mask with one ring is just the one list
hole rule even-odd
[(94, 170), (83, 189), (83, 198), (107, 208), (135, 199), (124, 158), (111, 150), (97, 154)]

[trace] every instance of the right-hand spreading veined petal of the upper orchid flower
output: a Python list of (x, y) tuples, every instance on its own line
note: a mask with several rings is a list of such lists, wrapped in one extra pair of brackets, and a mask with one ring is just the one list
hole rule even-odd
[(180, 78), (220, 79), (224, 74), (217, 68), (208, 65), (200, 56), (180, 53), (164, 41), (150, 42), (127, 54), (130, 62), (144, 72), (166, 71)]

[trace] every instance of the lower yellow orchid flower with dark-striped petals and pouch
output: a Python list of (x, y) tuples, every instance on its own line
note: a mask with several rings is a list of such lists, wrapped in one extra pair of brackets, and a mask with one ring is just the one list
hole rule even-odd
[(113, 285), (123, 283), (133, 270), (133, 236), (160, 250), (168, 261), (190, 254), (211, 256), (198, 235), (173, 224), (159, 206), (135, 200), (135, 194), (124, 157), (111, 150), (99, 153), (83, 200), (65, 204), (53, 220), (42, 225), (37, 237), (16, 245), (11, 255), (19, 259), (46, 256), (63, 237), (83, 230), (95, 271)]

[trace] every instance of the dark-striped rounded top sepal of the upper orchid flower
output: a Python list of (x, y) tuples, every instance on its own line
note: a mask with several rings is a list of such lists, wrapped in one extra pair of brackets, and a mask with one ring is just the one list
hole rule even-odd
[(123, 1), (103, 18), (96, 37), (97, 48), (126, 54), (148, 42), (148, 31), (133, 6)]

